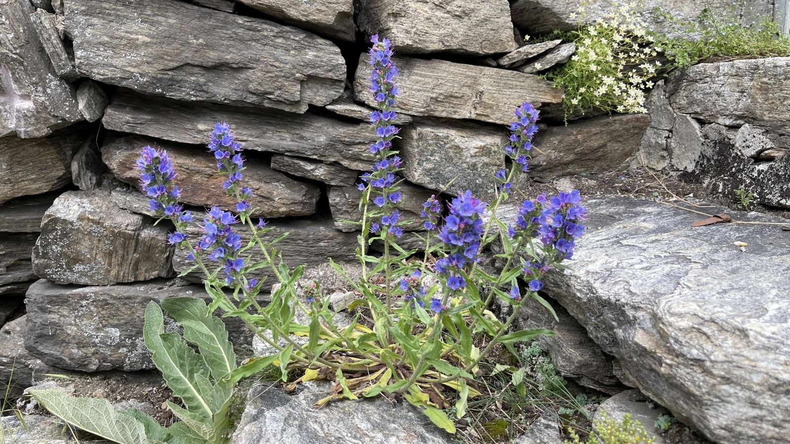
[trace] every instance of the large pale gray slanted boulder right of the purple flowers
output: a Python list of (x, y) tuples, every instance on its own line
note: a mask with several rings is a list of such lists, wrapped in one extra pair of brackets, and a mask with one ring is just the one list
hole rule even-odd
[[(720, 444), (785, 442), (790, 243), (777, 226), (692, 228), (698, 214), (630, 198), (585, 201), (566, 273), (547, 279), (639, 389)], [(724, 209), (707, 209), (722, 213)], [(766, 221), (758, 213), (738, 220)], [(734, 241), (749, 244), (743, 252)]]

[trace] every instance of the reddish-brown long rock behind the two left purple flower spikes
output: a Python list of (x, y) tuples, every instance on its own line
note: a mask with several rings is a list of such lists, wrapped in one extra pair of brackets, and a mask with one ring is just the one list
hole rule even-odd
[[(235, 198), (225, 193), (222, 183), (228, 179), (216, 170), (216, 160), (207, 149), (197, 145), (183, 145), (149, 137), (121, 137), (102, 147), (102, 158), (116, 178), (140, 186), (140, 171), (134, 161), (143, 146), (166, 149), (176, 171), (175, 182), (181, 190), (180, 200), (198, 206), (216, 205), (231, 209)], [(265, 160), (247, 159), (244, 163), (244, 186), (253, 190), (250, 205), (254, 216), (307, 216), (315, 213), (321, 195), (318, 186), (299, 182), (273, 171)]]

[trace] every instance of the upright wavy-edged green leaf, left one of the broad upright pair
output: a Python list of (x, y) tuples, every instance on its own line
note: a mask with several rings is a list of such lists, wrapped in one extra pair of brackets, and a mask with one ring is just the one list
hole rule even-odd
[(151, 359), (162, 372), (173, 395), (180, 397), (190, 411), (211, 418), (213, 416), (205, 394), (195, 385), (194, 375), (209, 377), (205, 361), (177, 333), (164, 333), (162, 310), (155, 302), (145, 309), (143, 339), (152, 352)]

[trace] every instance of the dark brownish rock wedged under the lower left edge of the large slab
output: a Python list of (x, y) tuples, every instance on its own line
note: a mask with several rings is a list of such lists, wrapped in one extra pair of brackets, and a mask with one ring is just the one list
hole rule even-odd
[(581, 386), (604, 393), (619, 393), (625, 388), (615, 376), (612, 358), (587, 335), (584, 327), (568, 311), (553, 300), (551, 307), (559, 322), (540, 303), (532, 299), (525, 303), (515, 321), (514, 331), (521, 329), (550, 329), (553, 337), (540, 336), (540, 348), (549, 352), (551, 362), (566, 378), (574, 378)]

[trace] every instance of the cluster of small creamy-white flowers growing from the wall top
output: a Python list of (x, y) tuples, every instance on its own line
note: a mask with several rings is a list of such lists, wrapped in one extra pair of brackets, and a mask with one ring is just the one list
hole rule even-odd
[[(645, 88), (661, 63), (636, 2), (614, 2), (609, 12), (578, 31), (576, 54), (559, 83), (573, 107), (620, 113), (646, 112)], [(584, 7), (578, 15), (585, 14)], [(559, 80), (559, 79), (558, 79)]]

